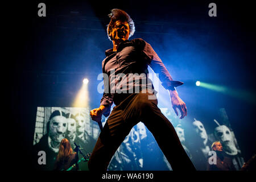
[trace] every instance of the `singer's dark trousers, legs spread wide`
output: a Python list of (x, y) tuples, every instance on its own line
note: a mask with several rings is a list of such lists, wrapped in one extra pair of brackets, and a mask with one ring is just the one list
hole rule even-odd
[(143, 122), (155, 137), (173, 170), (195, 170), (171, 122), (158, 108), (151, 93), (130, 94), (115, 106), (94, 146), (88, 162), (92, 171), (106, 171), (115, 151), (133, 126)]

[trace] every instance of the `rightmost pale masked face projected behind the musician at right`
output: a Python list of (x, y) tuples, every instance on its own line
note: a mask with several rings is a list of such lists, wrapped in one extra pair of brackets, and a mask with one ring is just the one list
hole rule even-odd
[(220, 140), (223, 145), (224, 151), (229, 155), (237, 155), (237, 148), (234, 144), (234, 139), (231, 135), (231, 131), (225, 125), (221, 125), (214, 129), (215, 137)]

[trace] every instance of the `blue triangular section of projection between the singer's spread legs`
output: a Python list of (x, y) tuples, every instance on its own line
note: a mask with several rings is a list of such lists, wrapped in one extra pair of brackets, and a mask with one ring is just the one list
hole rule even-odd
[(142, 122), (134, 126), (123, 140), (108, 167), (110, 171), (170, 171), (170, 169), (170, 164), (168, 166), (154, 137)]

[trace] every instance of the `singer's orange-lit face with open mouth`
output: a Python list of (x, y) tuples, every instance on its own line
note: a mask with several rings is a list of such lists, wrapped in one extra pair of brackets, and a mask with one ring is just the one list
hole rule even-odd
[(112, 40), (127, 40), (129, 38), (130, 34), (130, 27), (127, 22), (121, 22), (120, 20), (117, 20), (114, 23), (112, 32), (110, 33), (110, 37), (112, 37)]

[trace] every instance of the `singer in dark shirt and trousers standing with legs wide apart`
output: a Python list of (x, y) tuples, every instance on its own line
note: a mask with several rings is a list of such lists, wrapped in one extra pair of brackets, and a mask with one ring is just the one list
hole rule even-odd
[[(170, 93), (175, 113), (178, 115), (177, 109), (180, 110), (180, 119), (187, 115), (187, 108), (175, 87), (183, 83), (172, 80), (150, 44), (143, 39), (129, 40), (135, 27), (125, 11), (113, 9), (109, 17), (107, 32), (113, 48), (106, 50), (106, 58), (102, 61), (102, 72), (108, 77), (104, 77), (105, 89), (100, 107), (91, 110), (90, 115), (96, 122), (101, 122), (102, 114), (110, 115), (94, 146), (88, 168), (105, 171), (117, 148), (133, 126), (141, 121), (154, 135), (173, 170), (195, 170), (174, 127), (157, 106), (147, 67), (149, 65), (159, 74), (163, 87)], [(113, 102), (115, 107), (110, 113)]]

